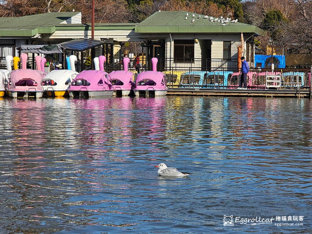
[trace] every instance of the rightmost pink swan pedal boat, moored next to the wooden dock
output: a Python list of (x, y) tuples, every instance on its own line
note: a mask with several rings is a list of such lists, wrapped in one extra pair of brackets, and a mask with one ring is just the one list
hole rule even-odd
[(135, 96), (153, 97), (167, 95), (166, 76), (162, 72), (156, 71), (157, 62), (157, 58), (152, 58), (152, 71), (143, 71), (138, 75), (135, 81)]

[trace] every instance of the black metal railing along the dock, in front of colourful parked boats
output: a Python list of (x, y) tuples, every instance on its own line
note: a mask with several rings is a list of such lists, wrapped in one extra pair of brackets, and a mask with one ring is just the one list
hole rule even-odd
[[(136, 74), (152, 70), (150, 58), (130, 61), (129, 71)], [(139, 65), (138, 65), (139, 64)], [(122, 61), (106, 66), (105, 71), (122, 70)], [(223, 59), (158, 59), (157, 71), (162, 71), (171, 88), (214, 88), (235, 89), (239, 86), (241, 73), (237, 60)], [(281, 75), (282, 89), (305, 89), (310, 87), (308, 73), (310, 69), (275, 69), (273, 75)], [(266, 74), (270, 69), (250, 68), (247, 74), (247, 86), (250, 89), (266, 89)]]

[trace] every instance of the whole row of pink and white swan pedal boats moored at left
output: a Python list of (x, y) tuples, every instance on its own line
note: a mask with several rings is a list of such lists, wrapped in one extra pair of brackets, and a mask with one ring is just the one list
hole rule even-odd
[[(95, 70), (78, 73), (75, 69), (75, 55), (69, 56), (66, 70), (44, 71), (46, 59), (36, 56), (36, 70), (27, 69), (27, 54), (21, 58), (6, 56), (7, 69), (0, 70), (0, 96), (9, 97), (70, 96), (163, 96), (167, 94), (166, 76), (156, 71), (157, 58), (152, 58), (152, 71), (143, 71), (135, 79), (134, 73), (128, 71), (129, 58), (123, 59), (124, 70), (104, 71), (105, 56), (94, 58)], [(12, 71), (12, 61), (14, 70)], [(22, 69), (18, 69), (21, 61)]]

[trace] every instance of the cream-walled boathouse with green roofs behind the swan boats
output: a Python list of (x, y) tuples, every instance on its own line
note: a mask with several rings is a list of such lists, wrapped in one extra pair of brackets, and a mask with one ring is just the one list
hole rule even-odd
[[(138, 24), (98, 23), (95, 39), (114, 45), (110, 51), (115, 59), (110, 59), (110, 63), (121, 58), (119, 49), (125, 42), (140, 41), (146, 48), (145, 56), (163, 59), (162, 66), (166, 67), (234, 68), (240, 46), (246, 61), (254, 66), (254, 37), (264, 35), (263, 30), (240, 22), (222, 25), (198, 14), (185, 19), (186, 13), (191, 15), (184, 11), (155, 12)], [(1, 58), (18, 56), (17, 48), (21, 45), (57, 44), (91, 37), (91, 26), (81, 23), (81, 12), (3, 17), (0, 25)], [(101, 50), (96, 55), (103, 53)]]

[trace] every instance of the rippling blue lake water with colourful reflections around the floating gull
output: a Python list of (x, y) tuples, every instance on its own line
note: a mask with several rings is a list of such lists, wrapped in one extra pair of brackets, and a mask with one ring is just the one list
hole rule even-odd
[[(2, 99), (1, 233), (311, 233), (311, 107), (295, 98)], [(159, 163), (192, 175), (160, 178)], [(224, 226), (224, 215), (301, 216), (288, 223), (303, 226)]]

